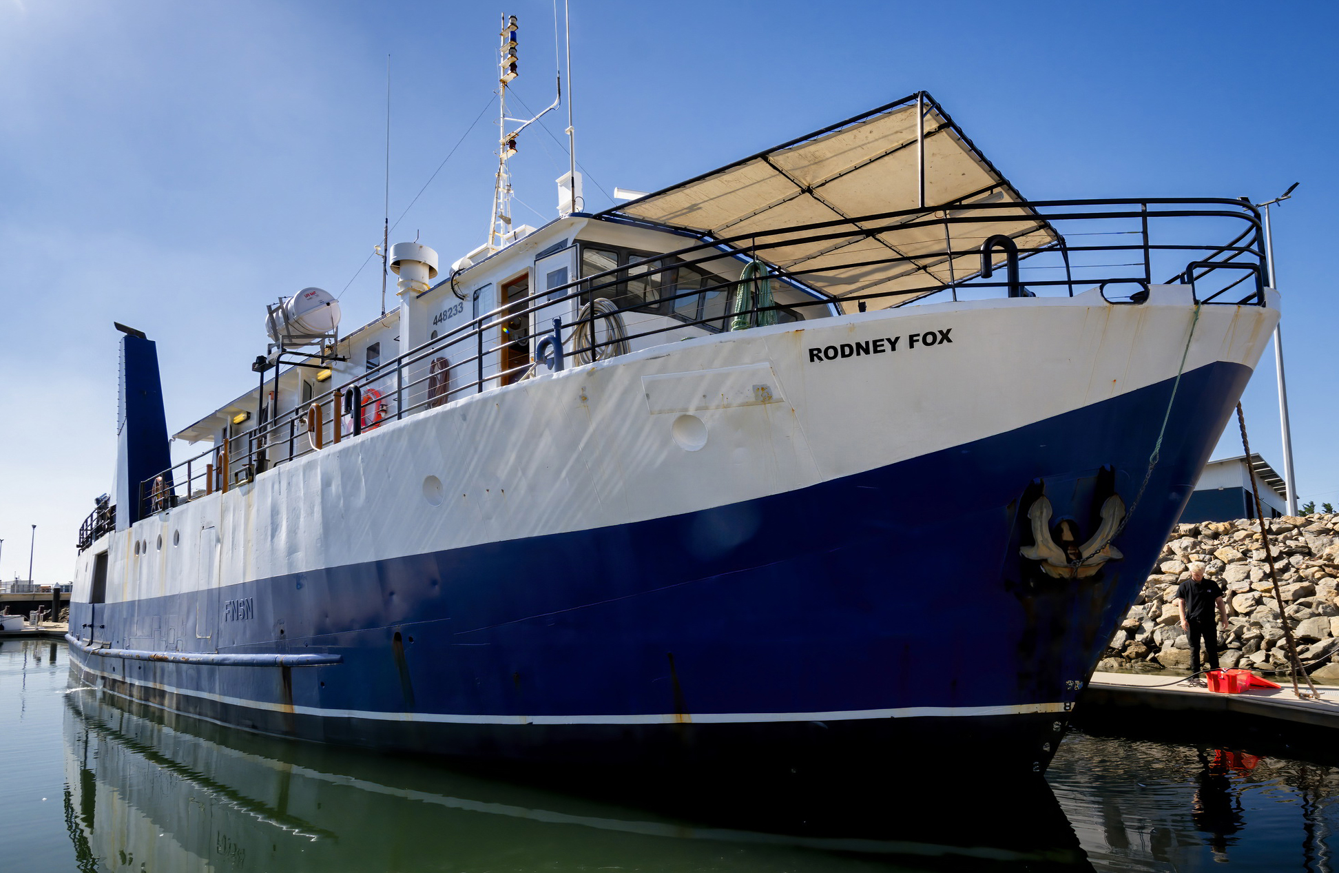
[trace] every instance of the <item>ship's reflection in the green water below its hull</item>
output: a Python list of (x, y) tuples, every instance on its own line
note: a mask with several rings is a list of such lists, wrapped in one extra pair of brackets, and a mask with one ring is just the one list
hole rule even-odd
[(1004, 798), (955, 785), (937, 799), (919, 783), (749, 791), (698, 777), (655, 797), (628, 783), (560, 791), (92, 688), (66, 700), (66, 825), (86, 872), (1091, 870), (1040, 781)]

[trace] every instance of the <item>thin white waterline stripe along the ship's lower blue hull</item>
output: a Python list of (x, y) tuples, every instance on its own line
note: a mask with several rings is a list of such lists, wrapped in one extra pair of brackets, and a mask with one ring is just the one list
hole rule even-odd
[(315, 715), (332, 719), (368, 719), (418, 724), (762, 724), (770, 722), (849, 722), (856, 719), (1032, 715), (1039, 712), (1069, 712), (1073, 706), (1070, 703), (1019, 703), (967, 707), (920, 706), (886, 710), (834, 710), (828, 712), (661, 712), (649, 715), (450, 715), (442, 712), (380, 712), (375, 710), (333, 710), (296, 704), (285, 706), (268, 700), (248, 700), (245, 698), (232, 698), (209, 691), (187, 691), (173, 686), (131, 679), (130, 676), (116, 676), (87, 664), (80, 664), (80, 667), (98, 676), (116, 679), (131, 686), (252, 710), (292, 712), (295, 715)]

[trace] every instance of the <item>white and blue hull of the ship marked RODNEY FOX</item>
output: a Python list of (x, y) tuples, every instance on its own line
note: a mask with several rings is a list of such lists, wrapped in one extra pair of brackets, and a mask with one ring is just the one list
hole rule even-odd
[[(1039, 770), (1269, 340), (1269, 293), (1202, 307), (1193, 335), (1184, 287), (923, 305), (471, 395), (108, 534), (80, 556), (72, 661), (228, 724), (462, 758), (972, 742)], [(1038, 576), (1036, 489), (1085, 536), (1114, 489), (1123, 558)], [(118, 584), (90, 604), (103, 549)]]

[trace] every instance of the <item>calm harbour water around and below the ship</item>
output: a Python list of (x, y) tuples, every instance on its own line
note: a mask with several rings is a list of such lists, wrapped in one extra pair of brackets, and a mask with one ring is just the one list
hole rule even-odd
[(1339, 842), (1339, 769), (1241, 750), (1071, 734), (1003, 797), (615, 803), (129, 711), (31, 640), (0, 643), (0, 870), (1320, 872)]

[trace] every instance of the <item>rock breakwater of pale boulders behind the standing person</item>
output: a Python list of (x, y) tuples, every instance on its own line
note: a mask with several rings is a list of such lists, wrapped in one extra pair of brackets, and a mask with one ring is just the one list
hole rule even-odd
[(1190, 644), (1181, 629), (1176, 589), (1190, 578), (1189, 564), (1202, 561), (1228, 605), (1228, 629), (1218, 633), (1220, 667), (1285, 667), (1285, 616), (1312, 679), (1339, 682), (1339, 514), (1284, 515), (1268, 520), (1265, 528), (1283, 604), (1273, 594), (1257, 522), (1177, 525), (1098, 669), (1189, 669)]

